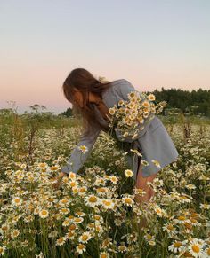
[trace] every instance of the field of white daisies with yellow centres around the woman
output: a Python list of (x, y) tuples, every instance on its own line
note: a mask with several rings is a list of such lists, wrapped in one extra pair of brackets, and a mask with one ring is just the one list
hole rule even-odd
[(126, 152), (104, 132), (77, 176), (55, 189), (81, 130), (43, 121), (37, 113), (0, 119), (0, 256), (210, 257), (209, 124), (166, 123), (179, 159), (139, 205)]

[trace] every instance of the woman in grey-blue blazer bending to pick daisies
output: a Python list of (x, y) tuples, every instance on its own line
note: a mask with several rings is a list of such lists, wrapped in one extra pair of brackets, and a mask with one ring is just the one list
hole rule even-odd
[[(71, 153), (67, 165), (61, 168), (58, 179), (68, 176), (69, 171), (77, 174), (90, 154), (101, 129), (105, 132), (109, 131), (106, 116), (109, 108), (117, 106), (120, 99), (128, 100), (128, 93), (135, 90), (132, 84), (125, 79), (100, 82), (83, 68), (72, 70), (63, 83), (62, 89), (65, 98), (82, 114), (85, 131)], [(120, 135), (117, 135), (117, 139), (122, 140)], [(176, 160), (178, 152), (157, 116), (145, 125), (137, 139), (127, 138), (125, 142), (130, 143), (132, 149), (141, 152), (142, 159), (149, 162), (149, 166), (142, 166), (137, 154), (127, 156), (127, 161), (133, 168), (135, 188), (141, 188), (146, 192), (144, 196), (136, 195), (135, 199), (140, 203), (148, 202), (154, 192), (147, 183), (154, 180), (159, 170)], [(80, 145), (87, 147), (87, 151), (82, 155), (79, 150)], [(155, 166), (151, 160), (158, 160), (161, 167)]]

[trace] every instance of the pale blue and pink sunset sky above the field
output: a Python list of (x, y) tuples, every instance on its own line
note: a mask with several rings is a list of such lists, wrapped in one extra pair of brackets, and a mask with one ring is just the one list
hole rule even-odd
[(82, 67), (136, 90), (210, 90), (209, 0), (0, 0), (0, 108), (71, 107)]

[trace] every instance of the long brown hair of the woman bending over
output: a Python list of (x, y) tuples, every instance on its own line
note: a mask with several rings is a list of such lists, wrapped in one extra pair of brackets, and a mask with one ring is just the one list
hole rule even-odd
[[(65, 98), (73, 105), (75, 113), (82, 115), (84, 133), (85, 135), (91, 136), (92, 129), (95, 126), (100, 125), (101, 129), (107, 129), (95, 116), (93, 105), (88, 102), (88, 93), (94, 92), (96, 95), (101, 97), (103, 90), (110, 87), (110, 82), (100, 82), (93, 74), (85, 70), (84, 68), (76, 68), (70, 72), (62, 85), (62, 90)], [(83, 108), (74, 104), (73, 93), (74, 88), (79, 90), (83, 95)]]

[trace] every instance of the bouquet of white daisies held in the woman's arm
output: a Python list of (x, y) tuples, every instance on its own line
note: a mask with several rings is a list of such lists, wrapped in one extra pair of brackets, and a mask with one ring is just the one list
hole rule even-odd
[(139, 137), (155, 114), (162, 112), (166, 101), (158, 104), (154, 94), (131, 91), (128, 93), (128, 100), (119, 100), (118, 106), (109, 108), (109, 127), (115, 129), (117, 137), (121, 141), (132, 142)]

